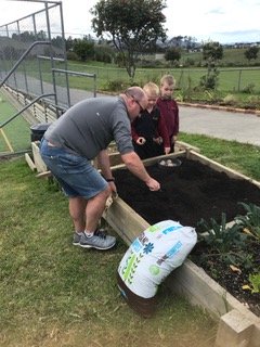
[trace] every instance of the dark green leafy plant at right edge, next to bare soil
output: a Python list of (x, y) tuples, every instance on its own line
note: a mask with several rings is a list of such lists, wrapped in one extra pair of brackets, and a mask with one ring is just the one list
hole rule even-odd
[(245, 216), (236, 216), (235, 221), (243, 231), (251, 237), (260, 241), (260, 206), (255, 204), (238, 203), (246, 210)]

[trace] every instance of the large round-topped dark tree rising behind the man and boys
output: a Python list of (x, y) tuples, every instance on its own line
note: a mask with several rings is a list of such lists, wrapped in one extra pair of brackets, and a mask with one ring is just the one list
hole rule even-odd
[(156, 41), (166, 39), (162, 0), (100, 0), (92, 9), (92, 27), (98, 37), (107, 35), (134, 78), (139, 55)]

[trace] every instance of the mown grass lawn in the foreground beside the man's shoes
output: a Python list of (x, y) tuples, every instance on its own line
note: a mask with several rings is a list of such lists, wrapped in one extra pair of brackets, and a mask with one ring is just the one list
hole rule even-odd
[(150, 320), (116, 286), (127, 246), (72, 245), (67, 201), (23, 158), (0, 163), (0, 346), (213, 346), (216, 322), (162, 285)]

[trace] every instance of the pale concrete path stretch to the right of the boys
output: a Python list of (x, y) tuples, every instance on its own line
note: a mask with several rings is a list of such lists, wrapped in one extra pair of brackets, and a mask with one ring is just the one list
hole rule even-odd
[(260, 146), (260, 117), (253, 114), (180, 107), (180, 131)]

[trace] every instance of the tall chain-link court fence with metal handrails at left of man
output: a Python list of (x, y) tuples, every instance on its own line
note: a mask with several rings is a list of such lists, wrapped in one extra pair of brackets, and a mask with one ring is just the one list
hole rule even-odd
[[(26, 2), (23, 1), (24, 5)], [(4, 140), (2, 147), (8, 146), (11, 152), (21, 149), (17, 124), (21, 114), (28, 116), (24, 110), (27, 106), (35, 116), (27, 124), (29, 127), (35, 121), (52, 121), (75, 102), (95, 97), (95, 75), (67, 68), (62, 2), (39, 2), (42, 10), (0, 26), (0, 88), (4, 91), (0, 102), (0, 111), (4, 111), (0, 115), (0, 137)], [(79, 100), (77, 95), (72, 100), (70, 76), (91, 80), (89, 91), (82, 92)], [(6, 91), (12, 95), (6, 95)], [(16, 107), (16, 113), (6, 115), (6, 103), (15, 101), (23, 107), (22, 113)], [(13, 147), (12, 143), (17, 145)]]

